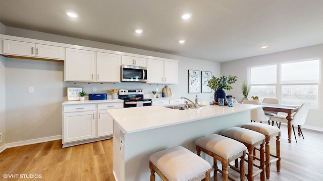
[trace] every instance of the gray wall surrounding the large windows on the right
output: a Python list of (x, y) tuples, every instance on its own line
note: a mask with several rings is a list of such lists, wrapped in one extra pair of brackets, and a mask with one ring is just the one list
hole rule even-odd
[[(250, 58), (244, 58), (240, 60), (230, 61), (221, 63), (221, 74), (231, 74), (238, 76), (238, 82), (235, 83), (234, 88), (229, 91), (229, 94), (234, 95), (238, 100), (243, 98), (240, 85), (243, 80), (248, 79), (248, 67), (255, 66), (255, 65), (266, 65), (272, 63), (279, 63), (285, 61), (295, 61), (295, 60), (302, 60), (308, 58), (319, 58), (323, 57), (323, 44), (305, 47), (305, 48), (298, 48), (294, 50), (279, 52), (279, 53), (272, 53), (262, 56), (255, 56)], [(322, 70), (322, 63), (320, 64), (320, 70)], [(320, 80), (323, 80), (321, 72)], [(320, 95), (323, 95), (322, 87), (319, 86), (319, 97), (318, 97), (318, 109), (311, 109), (308, 113), (305, 125), (308, 127), (319, 127), (320, 130), (323, 130), (323, 122), (320, 121), (321, 113), (323, 112), (322, 108), (322, 101), (323, 98)], [(316, 128), (314, 128), (316, 129)]]

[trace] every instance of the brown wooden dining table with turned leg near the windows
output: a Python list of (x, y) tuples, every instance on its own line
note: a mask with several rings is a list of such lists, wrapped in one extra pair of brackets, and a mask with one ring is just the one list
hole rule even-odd
[(287, 113), (286, 119), (287, 119), (287, 130), (288, 130), (288, 143), (292, 142), (292, 121), (293, 116), (292, 114), (297, 112), (299, 109), (299, 106), (291, 106), (291, 105), (277, 105), (277, 104), (261, 104), (262, 109), (264, 111), (273, 111), (273, 112), (281, 112), (281, 113)]

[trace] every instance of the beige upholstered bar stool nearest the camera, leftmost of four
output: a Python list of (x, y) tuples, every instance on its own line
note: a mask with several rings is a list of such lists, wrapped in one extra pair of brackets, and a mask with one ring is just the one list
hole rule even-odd
[(149, 157), (150, 181), (155, 172), (162, 180), (209, 180), (211, 165), (190, 150), (175, 146)]

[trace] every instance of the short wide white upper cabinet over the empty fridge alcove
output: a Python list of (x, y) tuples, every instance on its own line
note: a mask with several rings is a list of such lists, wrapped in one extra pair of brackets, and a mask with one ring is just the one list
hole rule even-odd
[(4, 40), (4, 54), (37, 57), (46, 59), (65, 59), (65, 48), (51, 45), (35, 44), (22, 41)]

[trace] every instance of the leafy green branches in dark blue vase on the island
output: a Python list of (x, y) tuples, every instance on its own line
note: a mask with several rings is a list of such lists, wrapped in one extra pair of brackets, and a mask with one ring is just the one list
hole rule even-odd
[(219, 98), (227, 99), (227, 93), (224, 91), (231, 90), (232, 89), (232, 83), (235, 83), (237, 81), (237, 76), (221, 76), (221, 77), (215, 77), (212, 76), (211, 79), (207, 81), (207, 86), (212, 88), (214, 92), (214, 101), (218, 102)]

